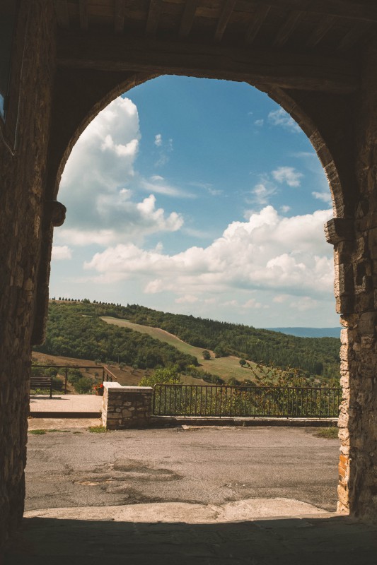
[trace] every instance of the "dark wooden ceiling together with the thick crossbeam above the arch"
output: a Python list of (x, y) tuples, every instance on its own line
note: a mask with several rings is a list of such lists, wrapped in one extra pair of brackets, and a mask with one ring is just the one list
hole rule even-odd
[(370, 0), (54, 0), (58, 64), (352, 92)]

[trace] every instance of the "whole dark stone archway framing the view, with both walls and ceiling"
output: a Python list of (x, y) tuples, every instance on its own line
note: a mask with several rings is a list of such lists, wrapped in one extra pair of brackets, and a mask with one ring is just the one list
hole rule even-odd
[[(303, 0), (266, 6), (232, 0), (213, 10), (199, 0), (166, 2), (170, 11), (151, 1), (144, 12), (128, 15), (127, 0), (109, 4), (112, 35), (108, 15), (98, 15), (90, 0), (20, 1), (16, 37), (25, 42), (13, 47), (8, 110), (0, 123), (0, 530), (12, 529), (23, 509), (30, 344), (42, 338), (52, 227), (64, 219), (64, 208), (54, 203), (59, 174), (71, 144), (101, 107), (161, 73), (257, 86), (298, 121), (318, 153), (335, 206), (327, 239), (335, 245), (335, 295), (344, 324), (340, 508), (376, 519), (376, 8), (353, 0), (314, 7)], [(90, 21), (95, 34), (88, 32)], [(326, 35), (332, 25), (335, 32)]]

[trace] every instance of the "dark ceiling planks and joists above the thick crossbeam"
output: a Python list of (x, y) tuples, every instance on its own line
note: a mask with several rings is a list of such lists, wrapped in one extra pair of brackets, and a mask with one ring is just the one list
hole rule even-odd
[(369, 0), (54, 0), (71, 32), (347, 52), (376, 33)]

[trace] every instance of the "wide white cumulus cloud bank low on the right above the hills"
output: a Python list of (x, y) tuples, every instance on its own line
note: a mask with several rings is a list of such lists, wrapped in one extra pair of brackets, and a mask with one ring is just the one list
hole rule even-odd
[[(159, 249), (118, 244), (95, 254), (85, 268), (99, 275), (113, 273), (117, 280), (140, 278), (144, 292), (170, 291), (180, 302), (236, 290), (327, 298), (333, 262), (323, 224), (331, 215), (331, 210), (317, 210), (284, 218), (266, 206), (248, 221), (232, 222), (207, 247), (194, 246), (168, 255)], [(244, 307), (257, 308), (257, 304), (256, 298), (250, 299)]]

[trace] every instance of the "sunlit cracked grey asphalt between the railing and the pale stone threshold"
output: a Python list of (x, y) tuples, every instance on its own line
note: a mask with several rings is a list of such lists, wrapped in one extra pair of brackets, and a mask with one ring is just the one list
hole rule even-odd
[(93, 434), (61, 426), (28, 434), (25, 510), (282, 497), (335, 511), (339, 441), (318, 438), (317, 431), (178, 427)]

